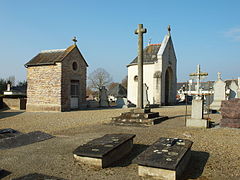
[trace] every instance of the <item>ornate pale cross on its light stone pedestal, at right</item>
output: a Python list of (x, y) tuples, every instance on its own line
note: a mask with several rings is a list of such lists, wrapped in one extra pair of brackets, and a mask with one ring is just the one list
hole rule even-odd
[(206, 128), (207, 120), (203, 119), (203, 96), (200, 90), (200, 79), (203, 76), (207, 76), (208, 73), (203, 73), (200, 71), (200, 65), (197, 67), (196, 73), (191, 73), (190, 76), (195, 77), (197, 79), (197, 96), (194, 100), (192, 100), (192, 114), (191, 119), (187, 119), (186, 126), (187, 127), (203, 127)]

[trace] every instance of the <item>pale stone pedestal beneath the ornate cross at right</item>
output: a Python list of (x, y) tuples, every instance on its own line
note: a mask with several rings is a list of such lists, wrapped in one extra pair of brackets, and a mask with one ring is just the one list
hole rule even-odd
[(187, 119), (186, 126), (187, 127), (200, 127), (207, 128), (208, 123), (207, 120), (203, 119), (203, 100), (202, 99), (194, 99), (192, 100), (192, 114), (191, 119)]

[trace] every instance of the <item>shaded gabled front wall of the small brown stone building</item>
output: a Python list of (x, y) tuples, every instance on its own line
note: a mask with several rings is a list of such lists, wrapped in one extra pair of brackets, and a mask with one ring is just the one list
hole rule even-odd
[[(77, 69), (73, 70), (73, 62), (77, 63)], [(79, 81), (79, 108), (86, 107), (86, 78), (87, 66), (77, 48), (62, 62), (62, 111), (70, 110), (71, 104), (71, 80)]]

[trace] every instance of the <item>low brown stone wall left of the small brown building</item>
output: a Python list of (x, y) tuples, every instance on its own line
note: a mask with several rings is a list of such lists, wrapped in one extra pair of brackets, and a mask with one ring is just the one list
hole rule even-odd
[(3, 98), (3, 107), (15, 110), (25, 110), (26, 102), (26, 98)]

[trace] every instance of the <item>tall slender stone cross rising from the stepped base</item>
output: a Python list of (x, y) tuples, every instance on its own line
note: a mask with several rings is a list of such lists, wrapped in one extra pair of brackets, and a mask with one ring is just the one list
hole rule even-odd
[(143, 33), (147, 29), (138, 24), (135, 34), (138, 34), (138, 103), (137, 108), (143, 109)]

